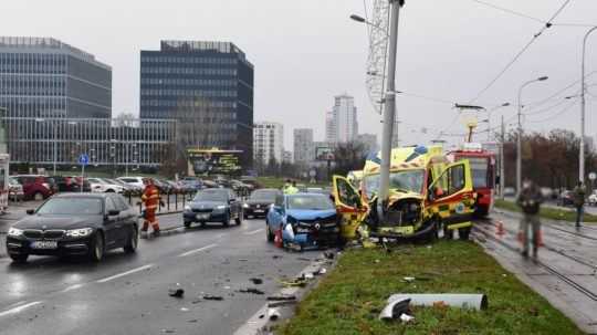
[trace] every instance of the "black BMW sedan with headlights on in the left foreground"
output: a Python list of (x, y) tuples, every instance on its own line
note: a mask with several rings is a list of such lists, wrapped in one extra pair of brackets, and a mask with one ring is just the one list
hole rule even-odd
[(107, 250), (137, 249), (137, 213), (117, 193), (57, 195), (28, 214), (7, 235), (15, 262), (30, 254), (85, 255), (98, 262)]

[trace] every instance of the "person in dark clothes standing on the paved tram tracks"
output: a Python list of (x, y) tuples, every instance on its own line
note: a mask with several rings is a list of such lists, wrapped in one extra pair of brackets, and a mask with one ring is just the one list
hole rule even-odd
[(524, 258), (528, 257), (528, 228), (533, 231), (533, 258), (537, 258), (537, 250), (541, 243), (541, 221), (538, 213), (542, 202), (543, 196), (540, 188), (530, 179), (525, 179), (516, 199), (516, 203), (523, 211), (519, 233), (523, 243), (522, 255)]

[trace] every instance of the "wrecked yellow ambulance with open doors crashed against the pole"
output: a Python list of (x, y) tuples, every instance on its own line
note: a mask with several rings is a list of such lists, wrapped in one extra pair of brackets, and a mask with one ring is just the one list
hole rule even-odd
[[(360, 189), (334, 176), (334, 198), (344, 239), (434, 240), (439, 232), (468, 239), (475, 193), (468, 160), (450, 164), (441, 146), (412, 146), (391, 151), (387, 201), (379, 201), (380, 154), (367, 158)], [(383, 216), (380, 216), (383, 211)]]

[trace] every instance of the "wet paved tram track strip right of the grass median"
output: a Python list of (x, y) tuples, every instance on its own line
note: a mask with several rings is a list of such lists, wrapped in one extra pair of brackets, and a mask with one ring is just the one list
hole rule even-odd
[(597, 227), (576, 230), (572, 222), (542, 219), (544, 247), (534, 263), (520, 255), (520, 217), (493, 212), (491, 219), (475, 224), (473, 238), (579, 328), (597, 334)]

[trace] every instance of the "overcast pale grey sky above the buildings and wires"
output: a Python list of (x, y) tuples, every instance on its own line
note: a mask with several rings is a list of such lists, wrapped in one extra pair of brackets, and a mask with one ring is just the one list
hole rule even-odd
[[(542, 20), (564, 2), (486, 1)], [(366, 2), (370, 8), (373, 0)], [(323, 139), (325, 112), (334, 95), (342, 93), (355, 96), (360, 132), (380, 137), (380, 117), (365, 88), (366, 28), (348, 19), (352, 13), (364, 14), (363, 0), (19, 0), (2, 1), (0, 12), (3, 35), (52, 36), (112, 65), (114, 115), (138, 115), (139, 50), (157, 50), (163, 39), (218, 40), (234, 42), (255, 65), (255, 121), (283, 123), (287, 148), (292, 149), (296, 127), (313, 127)], [(597, 24), (597, 1), (572, 0), (554, 22)], [(407, 0), (400, 17), (397, 87), (468, 103), (541, 28), (540, 22), (472, 0)], [(587, 30), (558, 25), (546, 30), (475, 103), (515, 105), (520, 85), (542, 75), (549, 80), (525, 88), (523, 104), (542, 101), (578, 81)], [(597, 32), (587, 48), (587, 73), (594, 70)], [(587, 82), (596, 84), (589, 87), (593, 96), (587, 101), (587, 133), (596, 136), (597, 73)], [(533, 115), (525, 117), (525, 127), (579, 133), (579, 103), (564, 101), (578, 91), (575, 85), (543, 105), (531, 105)], [(515, 107), (499, 109), (492, 123), (496, 125), (500, 114), (512, 119), (515, 113)], [(400, 137), (409, 144), (426, 143), (444, 129), (463, 132), (457, 111), (448, 103), (401, 96), (398, 114), (404, 122)]]

